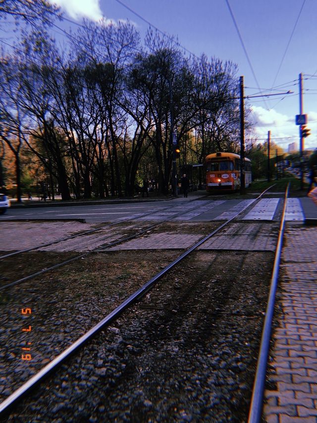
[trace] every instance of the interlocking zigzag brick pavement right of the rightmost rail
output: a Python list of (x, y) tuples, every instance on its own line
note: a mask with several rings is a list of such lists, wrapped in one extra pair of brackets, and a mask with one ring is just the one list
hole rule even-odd
[(268, 423), (317, 422), (317, 230), (287, 227), (281, 265), (281, 314), (265, 391)]

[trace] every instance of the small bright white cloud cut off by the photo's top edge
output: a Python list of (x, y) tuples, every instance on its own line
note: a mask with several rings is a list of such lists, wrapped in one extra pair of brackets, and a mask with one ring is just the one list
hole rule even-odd
[(99, 0), (53, 0), (52, 2), (65, 10), (73, 19), (86, 17), (92, 20), (100, 20), (103, 17)]

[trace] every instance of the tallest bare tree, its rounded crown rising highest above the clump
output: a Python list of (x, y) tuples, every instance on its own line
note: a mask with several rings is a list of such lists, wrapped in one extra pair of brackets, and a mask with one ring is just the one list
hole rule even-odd
[[(89, 86), (93, 103), (98, 105), (94, 132), (101, 126), (110, 163), (111, 194), (122, 195), (122, 181), (125, 181), (125, 192), (131, 193), (133, 181), (127, 152), (131, 151), (128, 120), (132, 118), (132, 111), (126, 107), (128, 96), (124, 93), (127, 89), (124, 80), (135, 57), (139, 34), (129, 23), (109, 25), (103, 22), (87, 24), (86, 30), (79, 31), (78, 38), (82, 41), (77, 46), (78, 60), (91, 70)], [(123, 169), (120, 166), (122, 155)]]

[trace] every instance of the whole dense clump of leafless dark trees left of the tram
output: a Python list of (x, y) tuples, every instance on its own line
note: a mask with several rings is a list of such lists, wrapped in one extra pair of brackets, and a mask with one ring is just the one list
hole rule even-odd
[(145, 41), (143, 50), (129, 23), (90, 22), (67, 55), (37, 31), (2, 58), (0, 139), (17, 157), (28, 145), (63, 199), (69, 186), (77, 198), (130, 196), (144, 178), (166, 194), (172, 122), (178, 165), (238, 149), (236, 66), (186, 58), (177, 40), (151, 30)]

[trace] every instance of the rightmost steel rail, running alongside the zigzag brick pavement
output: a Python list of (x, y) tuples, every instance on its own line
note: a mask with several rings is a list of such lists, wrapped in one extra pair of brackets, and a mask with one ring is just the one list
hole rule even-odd
[(268, 359), (268, 353), (269, 353), (269, 342), (270, 342), (270, 336), (271, 336), (272, 319), (273, 319), (273, 313), (274, 313), (275, 294), (276, 294), (277, 282), (278, 282), (279, 263), (280, 263), (282, 244), (283, 244), (288, 191), (289, 191), (289, 183), (285, 191), (284, 207), (283, 207), (281, 223), (279, 228), (279, 235), (278, 235), (278, 240), (276, 245), (275, 259), (274, 259), (273, 271), (272, 271), (271, 282), (270, 282), (270, 291), (269, 291), (268, 302), (266, 306), (260, 353), (259, 353), (255, 381), (253, 385), (253, 393), (252, 393), (248, 423), (260, 423), (262, 421), (262, 408), (263, 408), (266, 367), (267, 367), (267, 359)]

